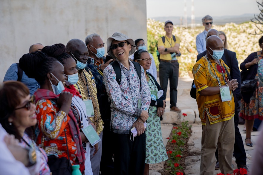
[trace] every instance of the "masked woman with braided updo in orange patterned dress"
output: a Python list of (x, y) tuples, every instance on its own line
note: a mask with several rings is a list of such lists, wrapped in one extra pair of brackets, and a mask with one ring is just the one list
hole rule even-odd
[[(64, 66), (43, 52), (23, 55), (19, 66), (28, 77), (35, 78), (40, 83), (40, 89), (34, 93), (36, 143), (45, 150), (48, 162), (54, 157), (66, 157), (72, 165), (84, 163), (79, 127), (70, 109), (72, 95), (62, 92), (66, 80)], [(50, 164), (49, 166), (52, 167)]]

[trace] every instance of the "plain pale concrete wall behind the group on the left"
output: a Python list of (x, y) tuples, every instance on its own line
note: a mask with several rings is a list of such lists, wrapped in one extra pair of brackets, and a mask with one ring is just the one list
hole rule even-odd
[(9, 66), (35, 43), (85, 42), (91, 33), (106, 43), (116, 31), (146, 40), (146, 0), (1, 0), (0, 25), (2, 81)]

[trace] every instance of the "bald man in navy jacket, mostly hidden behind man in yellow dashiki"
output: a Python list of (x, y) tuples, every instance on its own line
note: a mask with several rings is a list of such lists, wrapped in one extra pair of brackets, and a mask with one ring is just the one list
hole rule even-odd
[[(206, 39), (211, 35), (217, 35), (219, 37), (219, 33), (215, 29), (210, 29), (207, 32)], [(197, 55), (198, 61), (200, 58), (205, 56), (207, 54), (207, 51), (200, 53)], [(230, 76), (232, 79), (236, 79), (238, 84), (241, 84), (241, 77), (240, 77), (240, 71), (238, 68), (238, 61), (236, 58), (236, 52), (232, 52), (230, 50), (224, 49), (224, 55), (221, 58), (224, 63), (230, 68)], [(236, 88), (234, 91), (234, 100), (235, 100), (235, 115), (234, 115), (234, 121), (235, 121), (235, 145), (234, 145), (234, 156), (236, 158), (236, 164), (239, 168), (245, 168), (248, 170), (246, 164), (247, 164), (247, 156), (244, 149), (244, 143), (241, 137), (241, 134), (238, 129), (238, 113), (239, 113), (239, 104), (238, 100), (241, 99), (241, 93), (240, 93), (240, 86)], [(217, 156), (218, 157), (218, 156)], [(218, 161), (218, 160), (217, 160)], [(219, 168), (218, 168), (219, 169)]]

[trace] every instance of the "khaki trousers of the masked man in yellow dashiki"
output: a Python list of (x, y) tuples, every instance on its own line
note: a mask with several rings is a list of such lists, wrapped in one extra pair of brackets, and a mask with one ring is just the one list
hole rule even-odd
[(235, 143), (234, 117), (232, 119), (202, 126), (202, 147), (200, 175), (213, 175), (215, 171), (215, 150), (218, 146), (219, 167), (223, 174), (233, 174), (232, 157)]

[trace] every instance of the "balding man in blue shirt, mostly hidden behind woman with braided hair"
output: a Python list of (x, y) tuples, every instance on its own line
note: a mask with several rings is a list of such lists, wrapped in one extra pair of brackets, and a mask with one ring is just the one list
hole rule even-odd
[[(29, 53), (41, 51), (43, 47), (44, 46), (40, 43), (33, 44), (29, 48)], [(8, 80), (17, 80), (24, 83), (28, 87), (30, 95), (33, 95), (36, 89), (40, 88), (39, 83), (34, 78), (28, 78), (25, 72), (19, 68), (18, 63), (11, 64), (11, 66), (7, 69), (3, 81)]]

